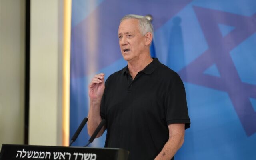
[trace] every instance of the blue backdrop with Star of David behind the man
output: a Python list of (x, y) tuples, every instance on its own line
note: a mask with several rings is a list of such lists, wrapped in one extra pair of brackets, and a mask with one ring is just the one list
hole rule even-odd
[[(184, 82), (191, 128), (176, 159), (256, 160), (255, 0), (73, 0), (70, 136), (88, 114), (92, 76), (126, 66), (117, 35), (126, 14), (153, 16), (154, 53)], [(74, 146), (88, 139), (85, 127)]]

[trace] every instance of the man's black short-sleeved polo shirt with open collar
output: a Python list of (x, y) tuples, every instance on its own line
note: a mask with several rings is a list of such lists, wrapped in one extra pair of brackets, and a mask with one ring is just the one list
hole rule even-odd
[(155, 58), (134, 80), (126, 66), (105, 82), (100, 114), (105, 147), (130, 151), (129, 160), (153, 160), (169, 138), (168, 125), (190, 127), (180, 76)]

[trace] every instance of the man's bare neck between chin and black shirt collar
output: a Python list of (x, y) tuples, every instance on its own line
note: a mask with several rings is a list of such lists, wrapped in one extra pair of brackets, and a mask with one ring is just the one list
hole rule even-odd
[(138, 74), (138, 72), (142, 71), (148, 64), (153, 61), (150, 54), (145, 57), (138, 58), (132, 62), (127, 62), (129, 73), (132, 76), (132, 79)]

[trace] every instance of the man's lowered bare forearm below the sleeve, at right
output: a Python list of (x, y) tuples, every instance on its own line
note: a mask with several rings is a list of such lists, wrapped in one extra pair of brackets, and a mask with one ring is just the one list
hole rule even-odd
[(155, 160), (170, 160), (184, 142), (185, 124), (170, 124), (169, 139)]

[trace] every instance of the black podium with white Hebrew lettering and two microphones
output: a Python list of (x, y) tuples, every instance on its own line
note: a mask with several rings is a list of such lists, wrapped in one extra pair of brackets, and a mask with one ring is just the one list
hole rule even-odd
[(127, 160), (122, 148), (2, 144), (0, 160)]

